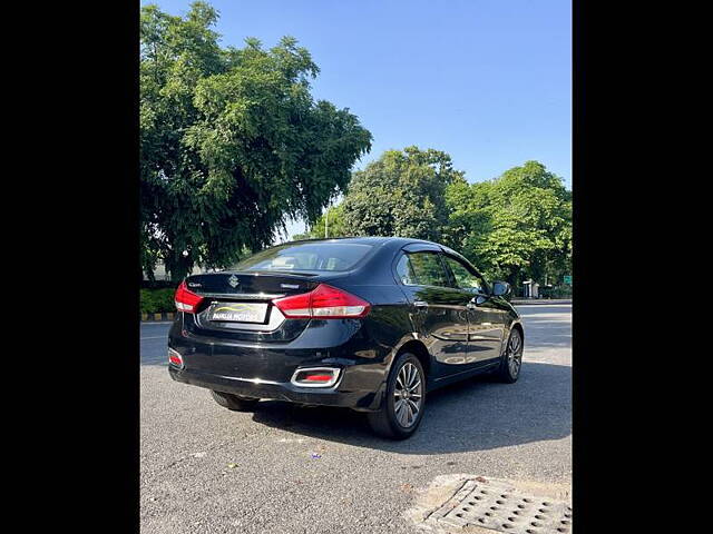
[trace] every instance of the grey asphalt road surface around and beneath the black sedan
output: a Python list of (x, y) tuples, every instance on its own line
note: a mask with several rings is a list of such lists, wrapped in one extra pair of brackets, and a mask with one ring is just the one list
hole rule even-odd
[(518, 309), (520, 379), (434, 392), (406, 442), (373, 436), (350, 411), (222, 408), (207, 389), (169, 378), (169, 325), (143, 324), (141, 532), (413, 533), (403, 512), (417, 492), (456, 473), (569, 492), (572, 306)]

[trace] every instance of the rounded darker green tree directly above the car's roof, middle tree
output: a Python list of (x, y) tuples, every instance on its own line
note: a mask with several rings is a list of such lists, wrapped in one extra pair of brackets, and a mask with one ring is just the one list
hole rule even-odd
[(388, 150), (354, 172), (341, 205), (344, 226), (358, 236), (439, 239), (448, 224), (446, 187), (462, 176), (446, 152)]

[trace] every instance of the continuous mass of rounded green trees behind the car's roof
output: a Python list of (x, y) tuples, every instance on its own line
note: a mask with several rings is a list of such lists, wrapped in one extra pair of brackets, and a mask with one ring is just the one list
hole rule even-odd
[[(389, 150), (354, 172), (329, 217), (330, 237), (437, 240), (462, 253), (490, 280), (516, 287), (528, 278), (556, 283), (572, 273), (572, 191), (537, 161), (468, 184), (445, 152)], [(323, 237), (324, 215), (294, 236)]]

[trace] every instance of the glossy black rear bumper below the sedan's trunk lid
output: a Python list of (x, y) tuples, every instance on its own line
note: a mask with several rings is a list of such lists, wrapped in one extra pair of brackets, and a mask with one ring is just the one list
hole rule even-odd
[[(311, 320), (284, 342), (240, 340), (185, 326), (176, 320), (168, 334), (168, 348), (182, 363), (168, 366), (176, 382), (246, 397), (358, 411), (381, 407), (392, 349), (368, 335), (362, 320)], [(340, 369), (338, 382), (320, 387), (292, 382), (299, 369), (315, 367)]]

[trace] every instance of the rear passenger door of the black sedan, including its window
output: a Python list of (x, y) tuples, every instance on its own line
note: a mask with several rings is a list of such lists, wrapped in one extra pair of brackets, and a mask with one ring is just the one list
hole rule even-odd
[(397, 277), (410, 300), (413, 323), (436, 358), (437, 376), (467, 370), (469, 296), (450, 284), (440, 249), (419, 244), (404, 247)]

